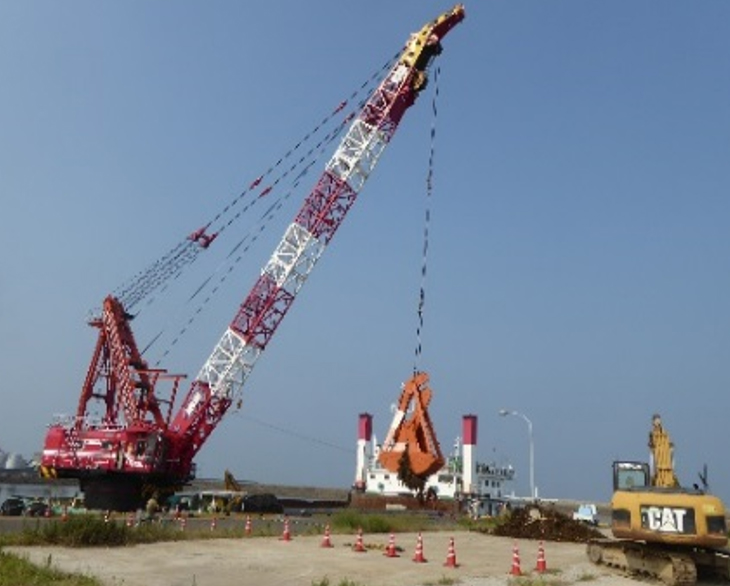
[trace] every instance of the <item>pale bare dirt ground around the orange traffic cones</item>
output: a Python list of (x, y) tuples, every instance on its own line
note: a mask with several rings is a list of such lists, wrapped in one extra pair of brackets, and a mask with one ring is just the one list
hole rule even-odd
[[(539, 541), (515, 541), (470, 532), (423, 533), (426, 563), (416, 563), (417, 534), (394, 536), (400, 557), (384, 555), (388, 535), (363, 535), (366, 549), (353, 551), (355, 535), (333, 535), (332, 548), (321, 536), (243, 537), (156, 543), (114, 549), (16, 547), (38, 564), (50, 563), (65, 571), (100, 578), (108, 586), (311, 586), (328, 580), (339, 586), (349, 580), (358, 586), (498, 586), (520, 584), (510, 574), (513, 565), (537, 577)], [(445, 566), (450, 538), (458, 567)], [(518, 563), (515, 564), (514, 546)], [(588, 562), (585, 545), (545, 542), (545, 584), (627, 586), (646, 584), (611, 573)], [(453, 581), (449, 581), (453, 580)], [(525, 581), (523, 583), (530, 583)]]

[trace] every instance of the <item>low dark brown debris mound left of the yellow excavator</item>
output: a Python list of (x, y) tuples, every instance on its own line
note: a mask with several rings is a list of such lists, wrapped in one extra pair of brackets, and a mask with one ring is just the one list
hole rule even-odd
[(529, 506), (508, 513), (494, 528), (494, 535), (519, 539), (544, 539), (585, 543), (604, 535), (595, 527), (574, 521), (549, 507)]

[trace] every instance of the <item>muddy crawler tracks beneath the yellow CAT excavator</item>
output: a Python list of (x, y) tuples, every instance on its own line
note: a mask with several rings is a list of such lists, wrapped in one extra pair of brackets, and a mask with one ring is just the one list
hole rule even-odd
[(698, 575), (730, 579), (730, 551), (671, 548), (628, 540), (596, 539), (586, 552), (594, 564), (647, 576), (667, 586), (691, 586)]

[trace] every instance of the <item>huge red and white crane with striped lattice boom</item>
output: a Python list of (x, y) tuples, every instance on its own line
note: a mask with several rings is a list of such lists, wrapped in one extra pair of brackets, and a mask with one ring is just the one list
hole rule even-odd
[[(44, 475), (78, 478), (87, 506), (116, 510), (135, 508), (148, 494), (173, 491), (194, 477), (193, 458), (241, 396), (254, 365), (403, 114), (424, 88), (428, 66), (441, 52), (441, 39), (463, 18), (464, 8), (457, 5), (410, 37), (343, 137), (174, 417), (183, 376), (149, 368), (137, 349), (131, 316), (116, 297), (104, 300), (101, 317), (92, 322), (99, 338), (76, 415), (48, 430), (41, 461)], [(200, 232), (194, 242), (205, 247), (214, 237)], [(172, 381), (164, 400), (155, 393), (162, 379)], [(97, 403), (103, 413), (93, 418), (91, 407)]]

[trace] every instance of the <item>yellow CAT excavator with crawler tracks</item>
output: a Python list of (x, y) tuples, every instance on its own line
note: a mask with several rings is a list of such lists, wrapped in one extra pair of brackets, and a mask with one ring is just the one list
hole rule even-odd
[(695, 584), (698, 574), (730, 578), (725, 506), (706, 486), (680, 486), (674, 445), (659, 415), (652, 419), (649, 449), (651, 465), (613, 463), (614, 539), (589, 542), (589, 559), (671, 586)]

